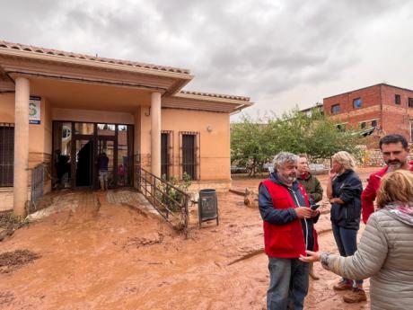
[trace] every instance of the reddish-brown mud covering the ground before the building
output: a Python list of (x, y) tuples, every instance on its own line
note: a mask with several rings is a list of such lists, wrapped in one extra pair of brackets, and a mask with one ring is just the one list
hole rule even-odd
[[(369, 171), (361, 171), (364, 180)], [(234, 179), (233, 186), (256, 188), (258, 183)], [(220, 194), (220, 225), (211, 222), (198, 230), (194, 217), (185, 238), (156, 217), (137, 212), (133, 203), (119, 203), (116, 194), (69, 193), (62, 199), (67, 208), (0, 243), (0, 254), (28, 250), (41, 256), (0, 273), (0, 309), (265, 308), (268, 258), (260, 252), (257, 208), (244, 207), (241, 196)], [(72, 208), (75, 201), (78, 207)], [(321, 250), (337, 252), (328, 214), (317, 228), (324, 232)], [(257, 254), (232, 263), (249, 253)], [(311, 280), (306, 308), (368, 308), (367, 303), (345, 304), (342, 293), (331, 289), (338, 276), (318, 263), (315, 270), (321, 279)]]

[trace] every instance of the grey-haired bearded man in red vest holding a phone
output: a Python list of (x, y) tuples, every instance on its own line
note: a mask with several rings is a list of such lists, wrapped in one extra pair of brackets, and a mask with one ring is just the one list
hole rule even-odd
[(259, 184), (259, 212), (264, 220), (265, 252), (268, 255), (268, 310), (303, 309), (308, 292), (308, 264), (300, 254), (317, 249), (312, 211), (303, 185), (297, 182), (298, 156), (281, 152), (275, 157), (274, 173)]

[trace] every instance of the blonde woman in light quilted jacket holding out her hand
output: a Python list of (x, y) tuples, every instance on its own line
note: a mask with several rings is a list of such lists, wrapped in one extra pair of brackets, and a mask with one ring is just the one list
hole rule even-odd
[(382, 178), (377, 211), (368, 219), (357, 252), (340, 257), (307, 252), (302, 261), (349, 279), (370, 279), (372, 310), (411, 309), (413, 305), (413, 173), (398, 170)]

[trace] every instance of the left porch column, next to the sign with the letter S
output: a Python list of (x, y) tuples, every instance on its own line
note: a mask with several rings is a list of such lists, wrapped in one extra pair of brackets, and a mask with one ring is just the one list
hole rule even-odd
[(15, 80), (14, 102), (14, 196), (13, 211), (26, 215), (29, 164), (29, 99), (30, 81), (25, 77)]

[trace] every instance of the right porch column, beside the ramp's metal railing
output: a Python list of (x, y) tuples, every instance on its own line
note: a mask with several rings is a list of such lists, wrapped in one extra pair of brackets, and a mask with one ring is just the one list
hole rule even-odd
[(161, 93), (151, 95), (151, 170), (161, 177)]

